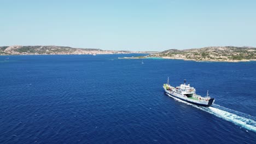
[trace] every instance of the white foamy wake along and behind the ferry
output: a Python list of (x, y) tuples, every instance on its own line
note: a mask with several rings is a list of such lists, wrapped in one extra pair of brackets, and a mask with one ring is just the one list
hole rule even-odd
[[(167, 94), (167, 95), (169, 97), (172, 97), (172, 95), (170, 95), (170, 94)], [(211, 113), (214, 116), (223, 118), (226, 121), (229, 121), (229, 122), (232, 122), (232, 123), (234, 123), (236, 125), (239, 125), (240, 127), (243, 127), (245, 129), (248, 129), (248, 130), (252, 130), (252, 131), (254, 131), (256, 133), (256, 122), (253, 120), (254, 118), (250, 119), (250, 118), (238, 116), (235, 113), (231, 113), (231, 112), (228, 112), (228, 111), (225, 111), (225, 110), (220, 110), (220, 109), (218, 109), (216, 107), (197, 106), (197, 105), (190, 104), (190, 103), (188, 103), (186, 101), (180, 100), (180, 99), (175, 98), (175, 97), (172, 97), (172, 98), (177, 100), (177, 101), (179, 101), (179, 102), (185, 103), (187, 105), (191, 105), (193, 107), (196, 107), (197, 109), (200, 109), (200, 110), (206, 111), (208, 113)], [(223, 107), (223, 106), (220, 106), (220, 107)], [(234, 111), (236, 113), (242, 113), (242, 112), (231, 110), (231, 109), (228, 109), (228, 108), (225, 108), (225, 107), (224, 107), (224, 109), (229, 110), (229, 111)], [(246, 115), (246, 114), (243, 113), (243, 115)], [(249, 115), (247, 115), (247, 116), (249, 116)], [(251, 117), (253, 117), (253, 116), (251, 116)]]

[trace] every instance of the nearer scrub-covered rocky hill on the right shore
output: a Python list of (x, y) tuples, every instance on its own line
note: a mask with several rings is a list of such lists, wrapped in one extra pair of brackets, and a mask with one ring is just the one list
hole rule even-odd
[(162, 57), (170, 59), (185, 59), (193, 61), (255, 61), (255, 47), (236, 47), (236, 46), (211, 46), (201, 49), (187, 50), (166, 50), (147, 57)]

